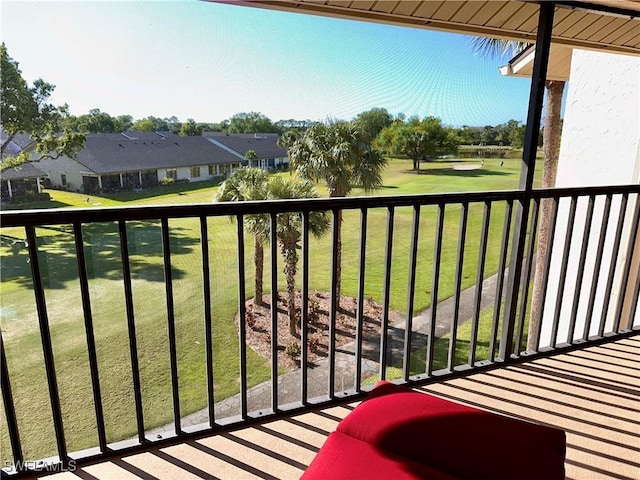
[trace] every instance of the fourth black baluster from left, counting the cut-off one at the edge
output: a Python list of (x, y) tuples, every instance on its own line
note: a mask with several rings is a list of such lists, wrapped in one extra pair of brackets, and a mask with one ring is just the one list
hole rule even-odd
[(140, 386), (140, 365), (138, 363), (138, 342), (136, 339), (136, 322), (133, 309), (133, 287), (131, 283), (131, 266), (129, 265), (129, 242), (127, 225), (124, 220), (118, 222), (120, 234), (120, 252), (122, 255), (122, 281), (124, 283), (124, 301), (127, 311), (127, 330), (129, 333), (129, 356), (131, 358), (131, 381), (133, 382), (133, 398), (136, 408), (136, 424), (138, 442), (145, 443), (144, 414), (142, 410), (142, 388)]

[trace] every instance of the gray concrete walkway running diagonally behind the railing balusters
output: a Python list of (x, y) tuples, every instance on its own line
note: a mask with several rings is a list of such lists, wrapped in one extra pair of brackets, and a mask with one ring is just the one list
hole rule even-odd
[[(490, 307), (495, 302), (495, 292), (498, 275), (493, 275), (485, 279), (482, 283), (482, 296), (480, 309)], [(475, 309), (476, 287), (473, 286), (460, 292), (460, 302), (458, 307), (458, 325), (461, 325), (473, 318)], [(440, 338), (451, 331), (451, 324), (454, 319), (455, 301), (448, 298), (437, 304), (435, 337)], [(431, 308), (423, 310), (412, 321), (413, 350), (417, 350), (426, 345), (429, 337), (431, 323)], [(388, 350), (387, 361), (401, 359), (404, 352), (404, 334), (406, 329), (406, 318), (395, 319), (387, 330)], [(366, 378), (379, 373), (380, 343), (379, 337), (376, 341), (363, 342), (362, 356), (362, 377)], [(336, 391), (352, 390), (355, 384), (355, 358), (354, 345), (347, 345), (336, 351), (335, 356), (335, 388)], [(313, 368), (307, 369), (308, 398), (322, 397), (328, 391), (328, 368), (329, 361), (323, 358), (316, 362)], [(278, 377), (278, 403), (287, 405), (299, 403), (301, 401), (301, 379), (300, 369), (292, 370)], [(271, 382), (267, 381), (250, 388), (247, 391), (247, 407), (249, 412), (263, 410), (271, 411)], [(234, 395), (215, 404), (215, 417), (217, 419), (233, 417), (240, 414), (240, 395)], [(182, 418), (182, 428), (206, 424), (209, 421), (208, 409), (203, 409)], [(162, 438), (173, 435), (173, 424), (165, 425), (147, 431), (150, 438)]]

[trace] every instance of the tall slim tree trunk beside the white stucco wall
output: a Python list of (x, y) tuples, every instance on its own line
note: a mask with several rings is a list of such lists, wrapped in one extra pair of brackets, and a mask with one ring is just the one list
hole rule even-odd
[[(542, 188), (553, 188), (556, 185), (558, 173), (558, 157), (560, 156), (560, 136), (562, 124), (560, 109), (562, 107), (562, 94), (564, 82), (547, 80), (547, 103), (544, 119), (543, 151), (544, 166), (542, 171)], [(531, 296), (531, 314), (529, 317), (529, 335), (527, 337), (527, 350), (535, 350), (535, 337), (538, 330), (538, 318), (541, 315), (542, 279), (544, 277), (545, 259), (549, 251), (549, 229), (551, 227), (552, 199), (543, 199), (540, 205), (540, 221), (538, 224), (538, 248), (536, 252), (536, 272), (533, 280), (533, 293)]]

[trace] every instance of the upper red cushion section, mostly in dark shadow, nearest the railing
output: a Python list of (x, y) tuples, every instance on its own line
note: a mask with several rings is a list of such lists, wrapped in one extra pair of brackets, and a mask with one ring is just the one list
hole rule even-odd
[(337, 430), (460, 478), (564, 478), (564, 431), (388, 382), (379, 384)]

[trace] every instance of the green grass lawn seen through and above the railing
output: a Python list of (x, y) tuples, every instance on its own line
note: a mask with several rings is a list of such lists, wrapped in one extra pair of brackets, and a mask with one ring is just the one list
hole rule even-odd
[[(440, 193), (452, 191), (503, 190), (517, 188), (519, 162), (486, 160), (480, 170), (454, 170), (461, 160), (423, 164), (419, 173), (409, 170), (410, 162), (392, 160), (386, 170), (384, 186), (376, 195)], [(469, 163), (473, 163), (470, 161)], [(286, 174), (284, 174), (286, 175)], [(192, 183), (163, 187), (138, 194), (94, 197), (71, 192), (50, 191), (52, 206), (101, 208), (121, 205), (159, 205), (210, 202), (215, 194), (213, 183)], [(321, 188), (326, 195), (326, 190)], [(355, 195), (362, 194), (360, 190)], [(44, 208), (49, 205), (38, 205)], [(23, 207), (33, 208), (34, 205)], [(343, 294), (355, 296), (358, 282), (359, 211), (344, 212)], [(457, 263), (457, 236), (460, 207), (447, 208), (439, 298), (453, 293), (453, 276)], [(497, 270), (497, 257), (504, 219), (504, 209), (492, 212), (487, 275)], [(415, 309), (429, 305), (433, 263), (436, 210), (423, 208), (420, 214), (420, 241), (416, 275)], [(482, 205), (469, 211), (463, 287), (475, 281), (479, 248)], [(227, 218), (209, 219), (211, 298), (213, 304), (214, 377), (216, 400), (239, 390), (239, 346), (233, 318), (237, 311), (236, 226)], [(399, 208), (394, 220), (392, 249), (391, 308), (403, 311), (407, 298), (409, 272), (411, 209)], [(382, 298), (384, 234), (386, 210), (369, 213), (366, 257), (366, 296)], [(176, 318), (176, 342), (179, 368), (181, 413), (206, 406), (204, 325), (202, 278), (197, 219), (170, 221), (172, 277)], [(84, 337), (82, 302), (79, 295), (73, 235), (70, 225), (39, 228), (40, 263), (54, 348), (56, 373), (66, 427), (67, 446), (75, 451), (97, 444), (95, 414)], [(145, 426), (152, 428), (172, 421), (172, 396), (169, 378), (168, 328), (164, 272), (158, 222), (128, 224), (133, 301), (142, 381)], [(46, 375), (40, 347), (30, 267), (20, 229), (3, 228), (2, 315), (0, 326), (11, 372), (12, 390), (26, 458), (53, 455), (55, 437), (50, 419)], [(133, 403), (129, 335), (122, 284), (119, 235), (116, 224), (91, 224), (84, 228), (85, 254), (88, 258), (89, 289), (99, 361), (103, 407), (109, 441), (136, 434)], [(331, 241), (329, 236), (311, 246), (310, 288), (330, 287)], [(247, 295), (252, 295), (253, 272), (250, 236), (247, 236), (245, 267)], [(265, 287), (270, 285), (270, 259), (265, 252)], [(278, 259), (279, 290), (284, 288), (282, 261)], [(82, 333), (80, 333), (82, 332)], [(462, 337), (461, 337), (462, 338)], [(249, 384), (269, 378), (267, 363), (249, 350)], [(6, 424), (5, 424), (6, 425)], [(9, 457), (6, 426), (2, 427), (2, 460)]]

